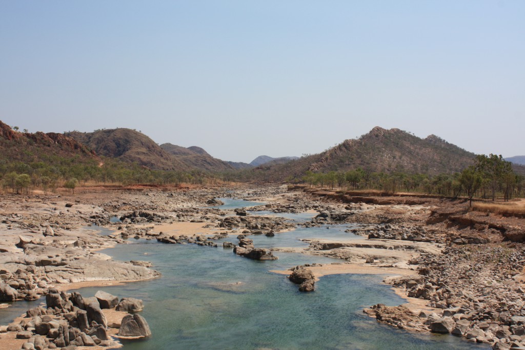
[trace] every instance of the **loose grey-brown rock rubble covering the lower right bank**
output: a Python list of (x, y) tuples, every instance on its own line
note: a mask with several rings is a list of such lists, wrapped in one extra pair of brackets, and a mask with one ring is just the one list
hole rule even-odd
[(440, 311), (414, 315), (398, 307), (374, 305), (367, 312), (400, 328), (451, 333), (490, 343), (494, 349), (521, 348), (525, 346), (525, 288), (521, 287), (525, 247), (518, 244), (453, 246), (439, 257), (421, 254), (410, 261), (419, 264), (417, 277), (391, 283)]

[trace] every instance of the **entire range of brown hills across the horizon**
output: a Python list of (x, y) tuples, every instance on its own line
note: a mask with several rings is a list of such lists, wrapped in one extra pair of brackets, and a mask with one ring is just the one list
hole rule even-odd
[[(251, 172), (247, 178), (286, 181), (307, 171), (348, 171), (362, 167), (372, 172), (454, 173), (472, 164), (475, 154), (440, 137), (421, 139), (399, 129), (376, 126), (359, 139), (345, 140), (319, 154), (298, 157), (255, 158), (251, 163), (226, 162), (197, 146), (156, 144), (150, 137), (131, 129), (103, 129), (93, 132), (20, 133), (0, 121), (0, 158), (6, 161), (37, 162), (46, 157), (74, 157), (100, 160), (99, 156), (134, 162), (150, 169), (206, 172)], [(0, 159), (0, 160), (1, 160)], [(525, 164), (525, 156), (507, 158)], [(514, 165), (519, 173), (525, 167)]]

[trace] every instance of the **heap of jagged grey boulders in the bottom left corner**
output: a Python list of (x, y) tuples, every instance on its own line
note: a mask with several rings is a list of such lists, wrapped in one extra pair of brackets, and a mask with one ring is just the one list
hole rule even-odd
[[(123, 298), (119, 302), (116, 296), (103, 291), (83, 298), (78, 292), (59, 292), (51, 288), (46, 294), (46, 306), (29, 309), (22, 321), (10, 324), (6, 331), (17, 332), (17, 339), (26, 340), (22, 345), (25, 350), (114, 347), (117, 343), (112, 341), (108, 331), (119, 325), (108, 324), (103, 309), (134, 313), (143, 309), (143, 303), (134, 298)], [(129, 314), (120, 322), (118, 335), (144, 337), (151, 335), (151, 331), (142, 316)]]

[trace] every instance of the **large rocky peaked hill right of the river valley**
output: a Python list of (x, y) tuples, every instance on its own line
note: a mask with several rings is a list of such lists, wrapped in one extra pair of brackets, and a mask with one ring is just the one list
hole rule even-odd
[(359, 139), (345, 140), (319, 154), (285, 164), (258, 166), (255, 171), (268, 181), (299, 178), (307, 171), (349, 171), (358, 167), (373, 172), (454, 173), (474, 163), (474, 153), (440, 137), (421, 139), (400, 129), (376, 126)]

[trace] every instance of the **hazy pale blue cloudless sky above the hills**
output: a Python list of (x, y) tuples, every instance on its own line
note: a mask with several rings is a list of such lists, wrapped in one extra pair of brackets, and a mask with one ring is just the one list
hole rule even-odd
[(525, 1), (0, 0), (0, 120), (215, 157), (374, 126), (525, 154)]

